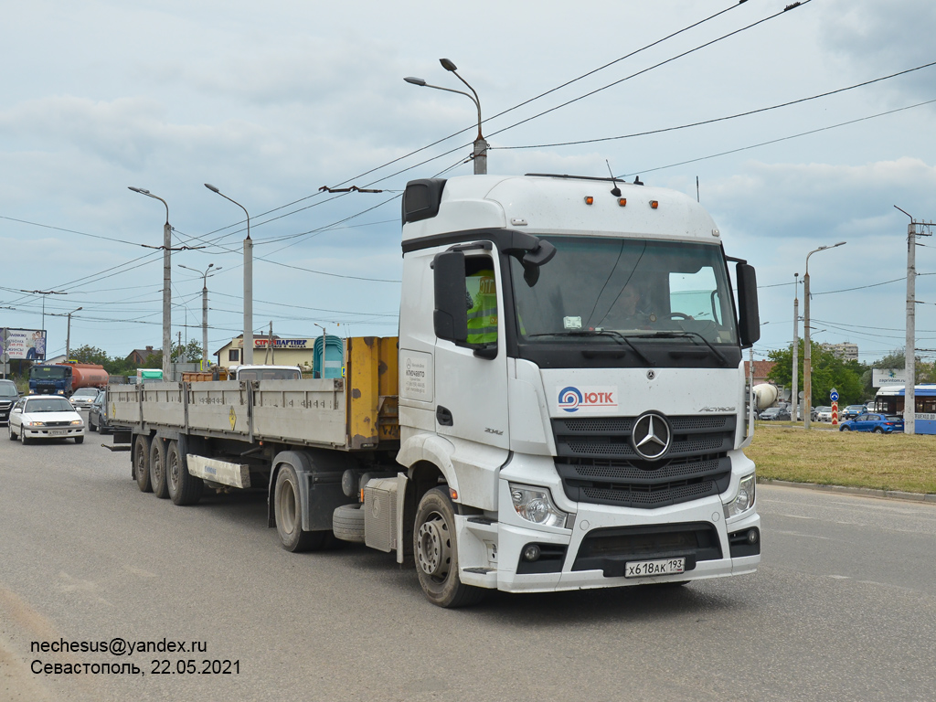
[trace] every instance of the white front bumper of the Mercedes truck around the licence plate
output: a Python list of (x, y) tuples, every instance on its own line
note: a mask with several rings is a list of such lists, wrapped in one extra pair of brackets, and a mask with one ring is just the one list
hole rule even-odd
[[(739, 451), (734, 453), (729, 494), (737, 490), (739, 477), (753, 470), (751, 461)], [(557, 482), (548, 487), (557, 506), (572, 515), (566, 524), (570, 528), (537, 527), (517, 515), (508, 483), (543, 485), (542, 468), (551, 468), (551, 461), (536, 465), (544, 460), (524, 457), (527, 465), (520, 466), (516, 458), (499, 481), (498, 519), (457, 518), (460, 575), (466, 584), (505, 592), (554, 592), (724, 578), (753, 573), (760, 563), (756, 508), (726, 520), (718, 495), (637, 509), (572, 503)], [(747, 542), (751, 530), (755, 530), (755, 544)], [(531, 545), (541, 553), (533, 563), (523, 559)], [(682, 573), (623, 576), (624, 563), (676, 557), (685, 558)]]

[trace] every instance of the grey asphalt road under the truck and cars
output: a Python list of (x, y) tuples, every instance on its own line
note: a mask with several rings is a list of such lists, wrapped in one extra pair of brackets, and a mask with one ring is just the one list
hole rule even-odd
[[(3, 702), (936, 696), (936, 505), (758, 486), (756, 575), (493, 592), (447, 611), (390, 554), (279, 548), (262, 492), (195, 507), (143, 494), (128, 454), (102, 441), (22, 446), (0, 428)], [(199, 651), (32, 651), (117, 636)], [(154, 672), (189, 660), (197, 673)], [(145, 674), (35, 674), (34, 661)]]

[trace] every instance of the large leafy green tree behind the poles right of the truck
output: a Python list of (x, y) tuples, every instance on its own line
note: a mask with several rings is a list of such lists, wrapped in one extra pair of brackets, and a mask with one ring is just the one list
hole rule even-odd
[[(873, 396), (861, 382), (865, 368), (856, 360), (845, 361), (821, 345), (811, 342), (812, 347), (812, 399), (810, 406), (829, 402), (832, 388), (839, 391), (840, 404), (863, 402)], [(803, 358), (805, 346), (799, 341), (799, 358)], [(793, 378), (793, 346), (771, 351), (768, 358), (775, 362), (768, 379), (789, 388)], [(802, 382), (802, 378), (800, 378)]]

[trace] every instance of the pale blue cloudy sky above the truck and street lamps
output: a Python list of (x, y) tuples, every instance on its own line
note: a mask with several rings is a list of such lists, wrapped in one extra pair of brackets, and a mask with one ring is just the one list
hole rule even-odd
[[(464, 89), (445, 57), (480, 97), (490, 173), (613, 172), (698, 197), (757, 270), (754, 358), (791, 343), (806, 256), (847, 241), (810, 258), (813, 339), (870, 363), (904, 346), (895, 206), (936, 221), (936, 4), (788, 4), (8, 3), (0, 327), (47, 329), (54, 356), (80, 307), (73, 348), (161, 347), (147, 247), (166, 209), (134, 186), (167, 201), (180, 249), (173, 340), (201, 339), (212, 264), (220, 349), (241, 333), (246, 229), (212, 183), (250, 213), (257, 333), (396, 335), (402, 189), (473, 171), (475, 106), (402, 80)], [(320, 190), (338, 185), (384, 192)], [(916, 347), (933, 359), (936, 241), (918, 241)]]

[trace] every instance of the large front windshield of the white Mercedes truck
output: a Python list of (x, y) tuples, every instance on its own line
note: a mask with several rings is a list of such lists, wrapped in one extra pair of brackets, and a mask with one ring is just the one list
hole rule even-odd
[[(511, 258), (519, 340), (555, 344), (738, 344), (721, 247), (639, 239), (543, 237), (557, 250), (533, 287)], [(607, 333), (608, 331), (616, 333)], [(675, 340), (675, 342), (674, 342)]]

